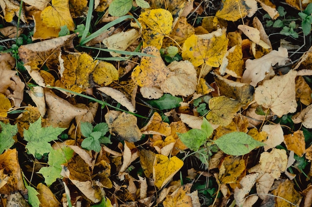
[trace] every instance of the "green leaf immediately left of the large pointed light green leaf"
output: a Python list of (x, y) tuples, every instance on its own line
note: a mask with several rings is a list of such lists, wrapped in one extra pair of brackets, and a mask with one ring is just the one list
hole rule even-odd
[(180, 140), (191, 150), (197, 151), (207, 140), (206, 133), (202, 130), (191, 129), (186, 133), (176, 133)]

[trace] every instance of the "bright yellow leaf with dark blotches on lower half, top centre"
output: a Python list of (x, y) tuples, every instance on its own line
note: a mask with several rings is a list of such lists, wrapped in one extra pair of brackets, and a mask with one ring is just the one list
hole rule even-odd
[(142, 25), (143, 47), (154, 46), (159, 50), (164, 36), (172, 30), (171, 13), (162, 8), (152, 9), (141, 13), (138, 20)]

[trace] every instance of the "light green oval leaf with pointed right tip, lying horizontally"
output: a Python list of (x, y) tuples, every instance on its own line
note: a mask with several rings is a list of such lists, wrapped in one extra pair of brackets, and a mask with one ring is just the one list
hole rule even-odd
[(213, 142), (226, 154), (244, 155), (265, 143), (257, 141), (243, 132), (232, 132), (221, 136)]

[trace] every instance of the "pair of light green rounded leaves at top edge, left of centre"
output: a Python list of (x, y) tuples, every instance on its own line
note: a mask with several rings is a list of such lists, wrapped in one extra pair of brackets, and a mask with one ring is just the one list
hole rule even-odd
[[(135, 0), (141, 8), (150, 8), (149, 2), (145, 0)], [(113, 0), (108, 7), (108, 12), (112, 16), (123, 16), (133, 7), (133, 0)]]

